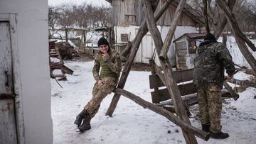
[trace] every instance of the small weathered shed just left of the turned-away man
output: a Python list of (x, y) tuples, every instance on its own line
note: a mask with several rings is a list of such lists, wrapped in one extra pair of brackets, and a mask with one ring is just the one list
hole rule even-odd
[(203, 42), (203, 36), (206, 33), (184, 33), (174, 40), (175, 60), (177, 69), (193, 68), (193, 60), (196, 57), (196, 49)]

